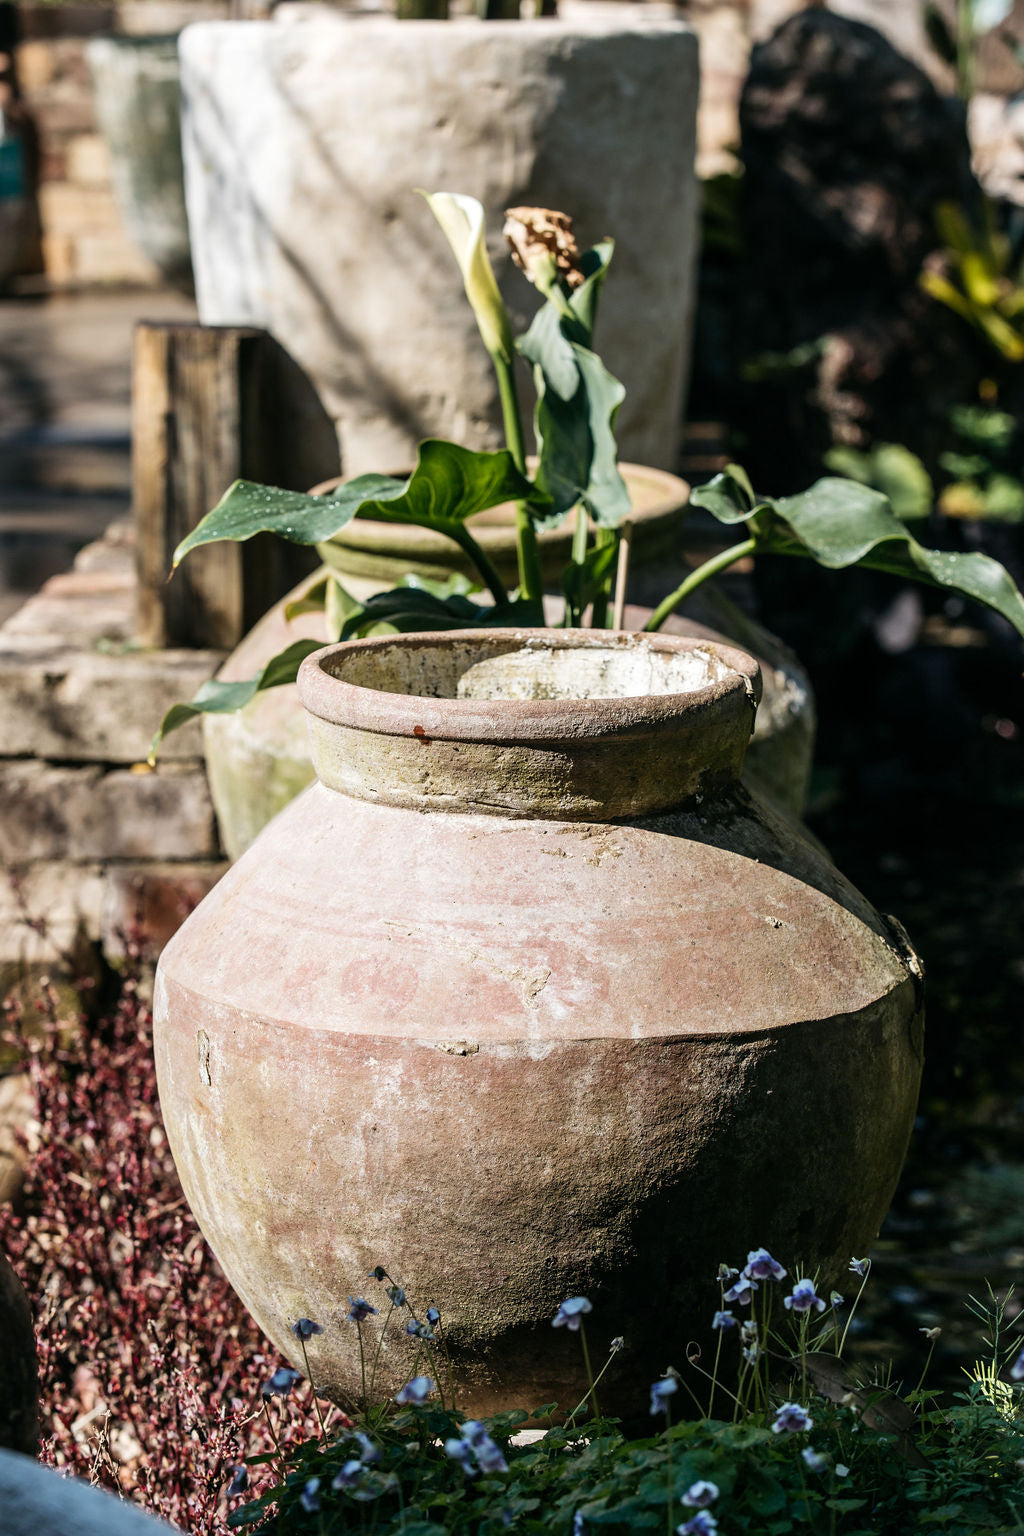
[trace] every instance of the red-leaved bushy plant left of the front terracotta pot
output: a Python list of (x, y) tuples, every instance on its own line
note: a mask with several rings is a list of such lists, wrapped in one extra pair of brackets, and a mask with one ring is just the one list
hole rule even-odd
[[(220, 1536), (235, 1464), (273, 1450), (261, 1385), (279, 1359), (184, 1203), (137, 980), (78, 1029), (61, 1026), (52, 992), (38, 1008), (29, 1032), (5, 1005), (37, 1120), (0, 1249), (35, 1307), (41, 1459)], [(316, 1433), (312, 1407), (309, 1393), (275, 1399), (282, 1444)]]

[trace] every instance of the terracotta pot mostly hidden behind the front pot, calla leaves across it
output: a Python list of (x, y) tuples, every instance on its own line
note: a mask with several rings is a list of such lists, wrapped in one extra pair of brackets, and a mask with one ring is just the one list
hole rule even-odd
[[(634, 538), (629, 591), (639, 599), (659, 601), (683, 579), (679, 538), (689, 485), (676, 475), (639, 464), (620, 465), (633, 501)], [(333, 488), (325, 481), (316, 492)], [(493, 507), (471, 519), (473, 535), (508, 584), (516, 581), (516, 521), (511, 507)], [(573, 518), (540, 535), (540, 556), (548, 590), (559, 590), (562, 567), (570, 559)], [(408, 573), (444, 581), (453, 571), (467, 573), (464, 554), (451, 539), (430, 528), (355, 519), (319, 545), (325, 564), (336, 570), (353, 596), (365, 601), (385, 591)], [(327, 642), (322, 613), (286, 617), (286, 608), (316, 585), (316, 571), (289, 593), (255, 625), (232, 651), (218, 676), (227, 682), (255, 676), (272, 656), (292, 641)], [(657, 596), (656, 596), (657, 594)], [(487, 601), (487, 594), (481, 594)], [(548, 622), (562, 616), (562, 599), (545, 602)], [(642, 630), (651, 608), (631, 605), (626, 628)], [(752, 651), (765, 685), (755, 737), (746, 763), (752, 788), (768, 793), (795, 816), (803, 813), (814, 754), (815, 711), (811, 682), (780, 641), (726, 604), (718, 594), (705, 593), (674, 614), (666, 628), (699, 639), (734, 641)], [(313, 780), (306, 722), (293, 687), (259, 694), (236, 714), (203, 717), (203, 745), (210, 794), (216, 809), (221, 843), (230, 859), (238, 859), (267, 822), (282, 811)]]

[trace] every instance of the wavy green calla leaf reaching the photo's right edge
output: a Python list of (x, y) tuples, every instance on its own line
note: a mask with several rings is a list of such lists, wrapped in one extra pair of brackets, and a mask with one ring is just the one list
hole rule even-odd
[(918, 544), (881, 492), (834, 476), (778, 501), (754, 502), (748, 488), (743, 472), (729, 465), (691, 499), (720, 522), (748, 522), (758, 551), (801, 554), (829, 570), (864, 565), (944, 587), (986, 604), (1024, 634), (1024, 598), (1009, 571), (987, 554), (950, 554)]

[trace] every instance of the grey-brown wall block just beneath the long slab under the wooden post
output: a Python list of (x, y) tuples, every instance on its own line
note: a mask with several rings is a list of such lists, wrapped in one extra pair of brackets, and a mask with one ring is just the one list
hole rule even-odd
[(201, 766), (132, 773), (25, 759), (0, 762), (0, 848), (12, 863), (220, 852)]

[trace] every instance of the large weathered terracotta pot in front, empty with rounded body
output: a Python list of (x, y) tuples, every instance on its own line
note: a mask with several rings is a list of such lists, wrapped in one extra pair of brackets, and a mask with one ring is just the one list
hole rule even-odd
[[(674, 636), (479, 630), (309, 657), (318, 783), (164, 949), (160, 1097), (239, 1296), (359, 1392), (376, 1264), (447, 1322), (474, 1412), (602, 1402), (708, 1336), (722, 1260), (870, 1244), (921, 1068), (889, 925), (740, 785), (755, 662)], [(382, 1356), (384, 1393), (411, 1366)]]

